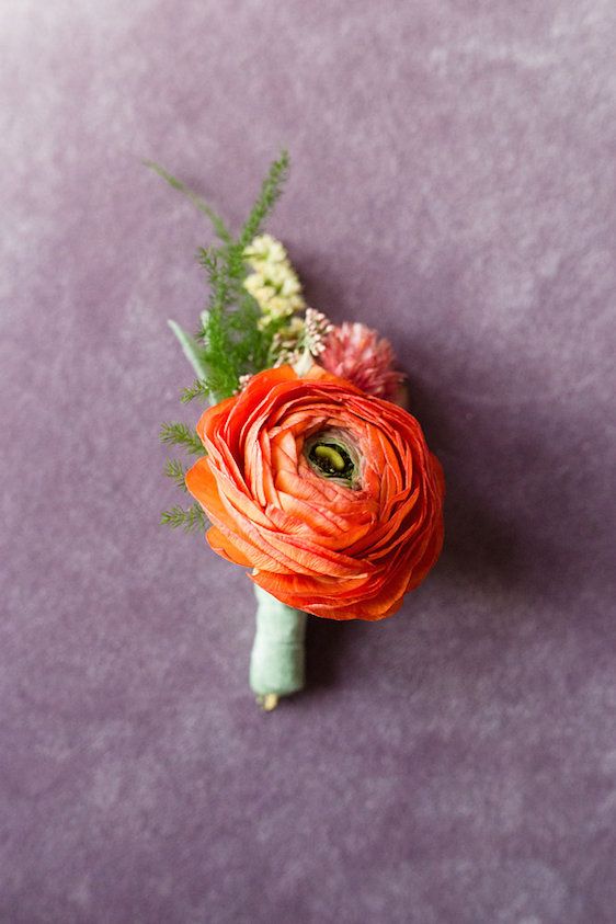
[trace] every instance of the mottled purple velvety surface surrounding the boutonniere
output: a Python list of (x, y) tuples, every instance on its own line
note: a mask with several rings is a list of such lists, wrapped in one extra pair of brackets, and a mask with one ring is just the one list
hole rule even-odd
[[(4, 0), (2, 924), (616, 920), (613, 0)], [(252, 597), (175, 499), (209, 231), (390, 336), (447, 546), (247, 688)]]

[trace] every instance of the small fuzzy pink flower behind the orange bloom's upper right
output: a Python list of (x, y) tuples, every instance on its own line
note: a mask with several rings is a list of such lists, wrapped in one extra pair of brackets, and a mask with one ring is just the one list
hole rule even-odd
[(365, 324), (335, 327), (323, 342), (318, 361), (328, 372), (345, 378), (367, 395), (395, 400), (404, 380), (393, 369), (391, 344)]

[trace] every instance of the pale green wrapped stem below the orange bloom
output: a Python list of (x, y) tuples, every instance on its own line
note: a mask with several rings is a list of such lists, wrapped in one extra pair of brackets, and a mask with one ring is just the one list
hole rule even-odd
[(256, 634), (250, 657), (250, 686), (265, 711), (304, 687), (306, 613), (255, 586)]

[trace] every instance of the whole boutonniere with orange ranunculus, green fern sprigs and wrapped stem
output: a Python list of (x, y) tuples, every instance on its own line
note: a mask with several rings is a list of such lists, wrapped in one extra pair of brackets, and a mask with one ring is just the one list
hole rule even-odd
[(401, 406), (390, 344), (364, 324), (334, 326), (306, 304), (283, 244), (264, 232), (288, 172), (270, 168), (239, 235), (157, 164), (209, 218), (198, 251), (210, 286), (194, 334), (169, 321), (196, 374), (182, 401), (209, 407), (161, 438), (196, 456), (166, 472), (193, 498), (162, 514), (207, 531), (249, 569), (258, 600), (250, 683), (264, 709), (304, 686), (307, 614), (384, 619), (423, 581), (443, 544), (444, 479)]

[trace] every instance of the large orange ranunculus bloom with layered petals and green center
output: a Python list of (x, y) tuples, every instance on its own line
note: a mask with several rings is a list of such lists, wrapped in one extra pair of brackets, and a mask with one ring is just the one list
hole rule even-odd
[(383, 619), (443, 545), (444, 479), (417, 420), (316, 366), (253, 376), (197, 424), (186, 486), (212, 548), (283, 603)]

